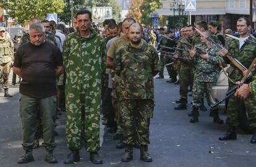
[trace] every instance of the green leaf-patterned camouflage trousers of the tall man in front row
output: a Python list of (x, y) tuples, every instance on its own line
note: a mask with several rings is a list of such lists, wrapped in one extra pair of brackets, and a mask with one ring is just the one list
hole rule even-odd
[(87, 152), (100, 150), (100, 96), (92, 91), (66, 90), (66, 137), (70, 150), (80, 150), (85, 143)]

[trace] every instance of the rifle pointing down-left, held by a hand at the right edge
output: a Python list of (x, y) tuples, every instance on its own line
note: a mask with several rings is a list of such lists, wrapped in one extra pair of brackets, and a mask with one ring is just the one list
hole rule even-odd
[(232, 96), (237, 89), (239, 89), (242, 84), (244, 83), (250, 83), (250, 81), (252, 81), (252, 75), (250, 75), (250, 71), (252, 71), (252, 68), (254, 68), (254, 65), (256, 63), (256, 58), (254, 59), (254, 61), (250, 64), (249, 69), (246, 71), (245, 75), (242, 77), (241, 79), (241, 83), (239, 85), (234, 86), (234, 88), (230, 89), (228, 92), (226, 92), (226, 97), (222, 100), (220, 100), (219, 102), (216, 102), (215, 104), (212, 104), (210, 107), (211, 109), (217, 107), (219, 104), (221, 104), (222, 102), (224, 102), (224, 100), (228, 99), (230, 96)]

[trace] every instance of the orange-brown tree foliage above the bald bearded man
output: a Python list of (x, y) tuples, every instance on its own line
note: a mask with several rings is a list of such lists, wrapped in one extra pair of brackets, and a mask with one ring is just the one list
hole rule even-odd
[(137, 23), (141, 23), (142, 19), (142, 10), (140, 7), (143, 4), (143, 0), (132, 0), (129, 6), (128, 17), (132, 17), (136, 20)]

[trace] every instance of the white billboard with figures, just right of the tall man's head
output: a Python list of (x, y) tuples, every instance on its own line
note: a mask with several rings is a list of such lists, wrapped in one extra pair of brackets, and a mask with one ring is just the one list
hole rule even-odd
[(93, 22), (104, 22), (105, 19), (112, 17), (112, 7), (93, 7), (92, 8)]

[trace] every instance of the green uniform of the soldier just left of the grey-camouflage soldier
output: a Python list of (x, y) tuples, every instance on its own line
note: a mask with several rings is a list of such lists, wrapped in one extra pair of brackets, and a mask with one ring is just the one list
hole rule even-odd
[[(181, 39), (182, 43), (191, 44), (192, 39), (187, 37)], [(189, 46), (184, 46), (181, 43), (177, 44), (177, 47), (181, 49), (190, 49)], [(186, 57), (189, 58), (189, 52), (186, 51), (177, 51), (179, 57)], [(194, 65), (188, 61), (179, 61), (179, 94), (182, 99), (187, 99), (187, 94), (190, 88), (193, 88), (193, 81), (194, 81)]]

